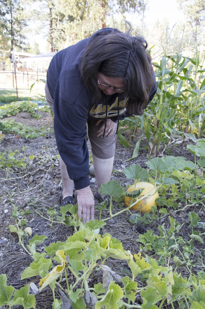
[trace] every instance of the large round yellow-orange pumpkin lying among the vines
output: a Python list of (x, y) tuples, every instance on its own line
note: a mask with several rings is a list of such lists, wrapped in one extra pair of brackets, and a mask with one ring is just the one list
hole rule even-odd
[[(150, 184), (149, 182), (138, 182), (135, 186), (135, 184), (133, 184), (132, 186), (130, 186), (127, 191), (128, 192), (132, 192), (134, 190), (138, 190), (138, 189), (142, 189), (144, 188), (142, 194), (140, 195), (140, 197), (142, 197), (143, 195), (151, 192), (155, 186), (153, 184)], [(148, 212), (148, 211), (151, 211), (151, 207), (154, 206), (154, 205), (158, 205), (157, 202), (155, 201), (157, 198), (159, 197), (159, 194), (158, 192), (155, 192), (154, 195), (152, 196), (147, 196), (145, 197), (143, 200), (139, 201), (138, 203), (136, 203), (133, 207), (131, 207), (130, 209), (132, 210), (138, 210), (138, 211), (141, 211), (141, 212)], [(136, 200), (134, 199), (133, 203), (135, 202)], [(130, 197), (125, 197), (125, 204), (126, 206), (128, 207), (129, 204), (131, 202), (131, 198)]]

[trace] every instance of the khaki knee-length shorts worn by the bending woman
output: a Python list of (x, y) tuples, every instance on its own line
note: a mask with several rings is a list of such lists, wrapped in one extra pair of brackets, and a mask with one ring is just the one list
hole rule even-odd
[[(46, 100), (50, 104), (50, 108), (54, 113), (54, 102), (48, 90), (47, 83), (45, 86), (45, 93), (46, 93)], [(117, 129), (117, 124), (115, 126), (115, 131), (111, 136), (109, 137), (105, 136), (104, 138), (101, 138), (101, 136), (97, 137), (97, 131), (101, 127), (102, 123), (95, 126), (96, 121), (97, 120), (95, 120), (94, 118), (87, 120), (88, 137), (90, 140), (92, 153), (95, 157), (99, 159), (110, 159), (115, 155), (115, 143), (116, 143), (115, 132)]]

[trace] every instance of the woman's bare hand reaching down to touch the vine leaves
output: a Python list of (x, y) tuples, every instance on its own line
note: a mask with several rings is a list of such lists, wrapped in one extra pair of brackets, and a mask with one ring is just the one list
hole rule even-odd
[(94, 220), (94, 197), (90, 186), (76, 190), (78, 201), (78, 218), (82, 217), (82, 222)]

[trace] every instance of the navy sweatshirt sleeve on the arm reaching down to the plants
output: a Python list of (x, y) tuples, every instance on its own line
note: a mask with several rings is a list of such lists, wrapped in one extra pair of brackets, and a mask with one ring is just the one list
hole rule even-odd
[(59, 92), (54, 93), (54, 131), (59, 154), (66, 164), (68, 175), (74, 181), (75, 189), (90, 185), (89, 153), (86, 143), (86, 108), (85, 98), (79, 96), (82, 108), (78, 104), (62, 99)]

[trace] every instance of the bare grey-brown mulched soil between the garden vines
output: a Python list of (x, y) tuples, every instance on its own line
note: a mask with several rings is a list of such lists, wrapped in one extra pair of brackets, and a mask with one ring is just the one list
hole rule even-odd
[[(60, 176), (59, 163), (58, 163), (58, 150), (55, 142), (52, 117), (49, 113), (39, 111), (41, 118), (35, 120), (28, 112), (20, 112), (16, 116), (11, 117), (15, 122), (23, 123), (26, 126), (33, 126), (34, 128), (41, 128), (42, 133), (44, 130), (47, 133), (46, 136), (39, 136), (35, 139), (25, 139), (21, 136), (15, 134), (5, 134), (3, 142), (0, 144), (1, 151), (6, 152), (8, 150), (14, 151), (19, 150), (22, 154), (22, 158), (26, 157), (28, 159), (30, 155), (34, 155), (33, 162), (30, 163), (29, 167), (26, 168), (27, 174), (24, 173), (17, 174), (19, 171), (17, 169), (8, 168), (0, 169), (1, 177), (1, 187), (0, 187), (0, 273), (5, 273), (7, 276), (7, 285), (14, 286), (15, 289), (20, 289), (27, 283), (33, 282), (36, 286), (39, 283), (39, 277), (32, 277), (31, 279), (21, 280), (21, 273), (23, 270), (30, 265), (32, 258), (25, 252), (21, 245), (18, 243), (18, 235), (16, 233), (11, 233), (9, 230), (9, 225), (15, 225), (14, 218), (11, 217), (14, 207), (18, 207), (21, 210), (30, 210), (30, 214), (26, 215), (28, 219), (27, 226), (30, 226), (33, 231), (33, 235), (46, 235), (47, 239), (43, 244), (37, 246), (38, 252), (43, 252), (45, 246), (49, 246), (52, 242), (66, 241), (68, 236), (74, 233), (73, 227), (66, 227), (58, 223), (53, 223), (52, 225), (45, 218), (40, 217), (35, 213), (33, 205), (38, 206), (38, 209), (49, 209), (50, 207), (57, 207), (59, 209), (59, 204), (62, 194), (62, 180)], [(126, 139), (129, 139), (126, 136)], [(141, 167), (146, 168), (146, 161), (152, 157), (148, 154), (148, 150), (139, 150), (139, 156), (135, 159), (128, 160), (132, 157), (134, 146), (138, 138), (141, 136), (141, 132), (137, 132), (135, 139), (131, 142), (131, 147), (125, 149), (119, 141), (116, 143), (116, 154), (113, 167), (113, 173), (111, 176), (112, 180), (117, 180), (124, 188), (128, 184), (132, 184), (132, 180), (127, 180), (123, 173), (125, 167), (129, 167), (131, 164), (136, 163)], [(142, 146), (147, 146), (146, 140), (141, 143)], [(22, 148), (24, 147), (24, 150)], [(90, 144), (88, 141), (88, 148), (90, 151)], [(72, 150), (71, 150), (72, 151)], [(159, 156), (167, 155), (167, 153), (159, 152)], [(194, 160), (192, 154), (186, 149), (186, 145), (182, 144), (172, 147), (169, 150), (168, 155), (174, 156), (184, 156), (189, 160)], [(23, 168), (22, 168), (23, 171)], [(91, 189), (94, 192), (97, 190), (96, 180), (93, 176), (90, 176)], [(98, 205), (97, 201), (95, 204)], [(57, 205), (57, 206), (54, 206)], [(124, 202), (117, 203), (114, 205), (113, 213), (123, 209), (125, 207)], [(183, 205), (181, 205), (183, 207)], [(181, 236), (187, 238), (187, 233), (190, 230), (188, 227), (189, 220), (187, 220), (187, 214), (189, 211), (194, 211), (194, 209), (186, 209), (186, 211), (176, 216), (174, 210), (169, 209), (169, 214), (173, 218), (176, 218), (178, 222), (183, 222), (183, 229), (181, 229)], [(46, 214), (46, 212), (45, 212)], [(157, 226), (159, 224), (165, 224), (169, 227), (168, 215), (161, 219), (161, 221), (152, 221), (149, 226), (132, 226), (129, 223), (129, 213), (123, 212), (123, 214), (112, 218), (107, 221), (107, 225), (104, 226), (100, 233), (104, 234), (108, 232), (112, 237), (120, 240), (123, 244), (125, 250), (130, 250), (131, 253), (139, 252), (139, 243), (136, 239), (139, 234), (144, 233), (147, 229), (152, 230), (155, 234), (159, 231)], [(204, 214), (201, 214), (202, 220), (204, 221)], [(107, 211), (103, 210), (102, 218), (107, 217)], [(99, 218), (99, 210), (95, 211), (95, 218)], [(28, 244), (29, 239), (25, 239), (25, 244)], [(199, 244), (200, 246), (201, 244)], [(200, 255), (200, 248), (199, 248)], [(174, 262), (173, 262), (174, 263)], [(110, 266), (116, 273), (121, 277), (130, 275), (130, 271), (127, 267), (126, 262), (108, 259), (106, 264)], [(170, 265), (172, 260), (170, 260)], [(186, 276), (187, 269), (182, 268), (184, 276)], [(188, 275), (188, 274), (187, 274)], [(70, 284), (74, 283), (73, 277), (70, 275), (68, 277)], [(93, 273), (89, 285), (102, 281), (101, 271)], [(62, 285), (64, 283), (61, 283)], [(138, 282), (138, 287), (140, 286), (140, 281)], [(78, 287), (78, 286), (76, 286)], [(56, 290), (59, 296), (58, 290)], [(51, 309), (53, 296), (49, 287), (44, 288), (41, 292), (35, 294), (36, 298), (36, 308), (38, 309)], [(138, 300), (140, 303), (141, 300)], [(18, 306), (18, 308), (21, 308)], [(163, 308), (170, 308), (168, 305), (164, 304)]]

